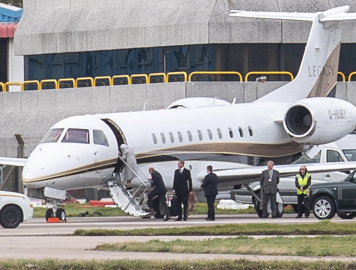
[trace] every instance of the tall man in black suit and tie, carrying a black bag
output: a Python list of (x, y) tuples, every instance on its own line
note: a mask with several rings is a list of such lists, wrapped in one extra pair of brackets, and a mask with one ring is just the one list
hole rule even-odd
[[(189, 186), (189, 189), (188, 189)], [(184, 160), (178, 161), (178, 169), (174, 171), (173, 178), (173, 195), (177, 197), (178, 217), (174, 221), (182, 221), (182, 203), (183, 203), (183, 220), (187, 221), (188, 194), (193, 194), (192, 176), (187, 168), (184, 168)]]

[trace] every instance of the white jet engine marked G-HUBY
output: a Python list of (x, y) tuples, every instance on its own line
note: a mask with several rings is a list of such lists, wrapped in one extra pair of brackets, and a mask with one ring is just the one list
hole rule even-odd
[(349, 134), (355, 129), (356, 108), (336, 98), (307, 98), (287, 109), (284, 129), (296, 142), (326, 144)]

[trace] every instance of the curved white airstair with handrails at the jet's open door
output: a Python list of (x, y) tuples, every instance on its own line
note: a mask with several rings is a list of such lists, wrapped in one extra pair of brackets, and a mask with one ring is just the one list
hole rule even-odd
[[(119, 207), (122, 211), (125, 213), (130, 214), (131, 216), (134, 217), (143, 217), (143, 218), (149, 218), (153, 216), (155, 213), (147, 213), (143, 211), (142, 208), (142, 201), (144, 200), (144, 194), (147, 191), (148, 187), (150, 187), (150, 182), (148, 181), (148, 177), (145, 175), (145, 173), (138, 167), (137, 169), (142, 173), (142, 177), (138, 176), (135, 171), (132, 170), (131, 167), (125, 162), (125, 160), (122, 159), (122, 157), (119, 156), (119, 158), (124, 162), (125, 170), (129, 169), (135, 174), (136, 178), (138, 179), (139, 185), (132, 185), (132, 190), (125, 190), (125, 180), (124, 177), (122, 176), (122, 172), (120, 172), (117, 176), (116, 174), (113, 174), (112, 180), (108, 182), (108, 188), (110, 191), (110, 195), (112, 198), (112, 201), (116, 204), (117, 207)], [(146, 178), (145, 181), (142, 180), (142, 178)], [(133, 181), (132, 180), (132, 181)]]

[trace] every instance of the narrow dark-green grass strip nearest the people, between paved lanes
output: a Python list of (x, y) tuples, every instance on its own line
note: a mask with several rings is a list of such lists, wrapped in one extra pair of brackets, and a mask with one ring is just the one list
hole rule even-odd
[(321, 220), (312, 224), (224, 224), (183, 228), (145, 228), (132, 230), (91, 229), (75, 230), (73, 235), (80, 236), (159, 236), (159, 235), (350, 235), (356, 234), (356, 223), (332, 223)]

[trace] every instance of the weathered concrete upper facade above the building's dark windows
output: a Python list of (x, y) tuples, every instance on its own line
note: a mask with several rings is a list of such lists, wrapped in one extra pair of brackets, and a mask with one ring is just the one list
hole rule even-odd
[[(231, 9), (325, 11), (356, 0), (26, 0), (15, 33), (17, 54), (44, 54), (207, 43), (305, 43), (310, 22), (229, 17)], [(354, 21), (340, 24), (356, 42)]]

